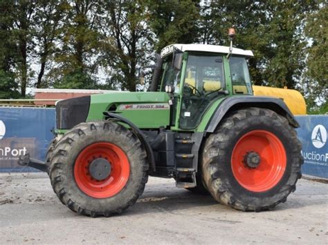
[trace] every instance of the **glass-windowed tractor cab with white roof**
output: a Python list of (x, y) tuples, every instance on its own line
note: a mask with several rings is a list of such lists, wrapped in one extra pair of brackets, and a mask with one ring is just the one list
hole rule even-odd
[[(197, 127), (203, 113), (226, 95), (253, 95), (246, 63), (250, 50), (201, 44), (173, 44), (157, 57), (151, 91), (172, 95), (171, 125)], [(157, 73), (157, 74), (156, 74)]]

